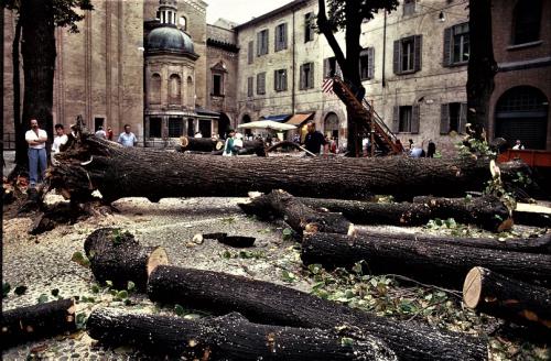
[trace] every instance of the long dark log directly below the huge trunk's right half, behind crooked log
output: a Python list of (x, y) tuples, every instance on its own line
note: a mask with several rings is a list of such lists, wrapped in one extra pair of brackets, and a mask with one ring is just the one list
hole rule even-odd
[(435, 218), (453, 218), (460, 223), (474, 223), (494, 232), (512, 226), (509, 210), (494, 196), (473, 199), (415, 197), (413, 203), (391, 204), (322, 198), (298, 200), (314, 209), (342, 212), (358, 225), (421, 226)]

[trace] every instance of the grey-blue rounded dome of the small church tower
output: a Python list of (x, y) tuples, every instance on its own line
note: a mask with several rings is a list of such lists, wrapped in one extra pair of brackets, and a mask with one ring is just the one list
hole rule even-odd
[(175, 25), (163, 25), (154, 29), (148, 35), (147, 51), (149, 53), (195, 54), (193, 41)]

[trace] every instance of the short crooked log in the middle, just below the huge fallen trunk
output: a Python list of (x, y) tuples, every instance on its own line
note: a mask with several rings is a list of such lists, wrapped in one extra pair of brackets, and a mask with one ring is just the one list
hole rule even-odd
[(315, 211), (289, 193), (274, 189), (267, 195), (256, 195), (248, 203), (239, 204), (248, 215), (259, 218), (281, 217), (291, 228), (302, 234), (306, 232), (353, 233), (354, 225), (342, 214)]

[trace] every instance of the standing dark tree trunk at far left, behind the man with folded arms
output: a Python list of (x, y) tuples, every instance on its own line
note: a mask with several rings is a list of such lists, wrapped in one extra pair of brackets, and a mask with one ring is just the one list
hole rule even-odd
[[(35, 118), (48, 136), (46, 151), (53, 140), (52, 118), (55, 70), (55, 23), (53, 0), (21, 2), (24, 95), (22, 124)], [(22, 135), (24, 138), (24, 133)], [(25, 153), (26, 154), (26, 153)]]

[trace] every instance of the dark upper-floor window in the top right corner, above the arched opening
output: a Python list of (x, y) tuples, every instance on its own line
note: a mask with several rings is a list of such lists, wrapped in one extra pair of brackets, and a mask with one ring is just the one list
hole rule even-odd
[(512, 44), (526, 44), (540, 39), (541, 0), (519, 0), (514, 14)]

